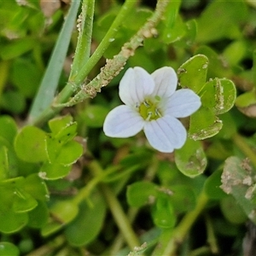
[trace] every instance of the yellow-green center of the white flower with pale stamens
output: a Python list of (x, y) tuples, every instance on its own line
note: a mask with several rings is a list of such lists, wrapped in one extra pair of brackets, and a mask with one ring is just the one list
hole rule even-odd
[(162, 116), (159, 108), (157, 108), (157, 104), (149, 100), (145, 100), (141, 103), (138, 109), (143, 119), (147, 121), (156, 120)]

